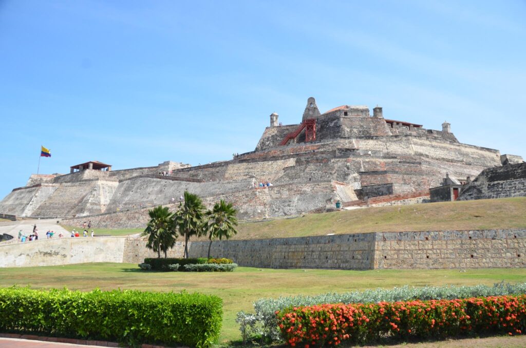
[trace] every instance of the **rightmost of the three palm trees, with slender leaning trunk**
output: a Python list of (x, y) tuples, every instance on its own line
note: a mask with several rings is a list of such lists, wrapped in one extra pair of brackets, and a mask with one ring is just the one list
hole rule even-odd
[(221, 240), (222, 237), (229, 239), (237, 233), (237, 211), (232, 207), (232, 203), (226, 203), (221, 199), (214, 205), (214, 209), (208, 210), (206, 214), (208, 216), (208, 239), (210, 240), (208, 258), (210, 258), (210, 248), (214, 239)]

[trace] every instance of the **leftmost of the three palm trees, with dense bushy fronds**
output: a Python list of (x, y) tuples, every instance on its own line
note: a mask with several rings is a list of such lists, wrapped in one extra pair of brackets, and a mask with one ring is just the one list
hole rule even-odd
[(174, 213), (168, 207), (158, 206), (148, 210), (148, 215), (150, 221), (143, 232), (143, 236), (148, 236), (146, 247), (156, 251), (159, 259), (163, 251), (166, 258), (168, 249), (174, 246), (177, 238)]

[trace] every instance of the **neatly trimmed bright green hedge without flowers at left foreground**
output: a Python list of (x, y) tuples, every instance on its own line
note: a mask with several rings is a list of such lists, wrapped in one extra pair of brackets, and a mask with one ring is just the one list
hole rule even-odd
[(3, 333), (207, 347), (221, 320), (221, 299), (200, 293), (0, 288)]

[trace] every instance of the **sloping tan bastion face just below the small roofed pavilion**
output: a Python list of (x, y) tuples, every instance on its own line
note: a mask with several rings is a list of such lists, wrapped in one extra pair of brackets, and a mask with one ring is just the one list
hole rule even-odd
[(77, 211), (79, 204), (92, 193), (98, 185), (98, 180), (66, 182), (57, 189), (33, 211), (33, 217), (64, 217)]

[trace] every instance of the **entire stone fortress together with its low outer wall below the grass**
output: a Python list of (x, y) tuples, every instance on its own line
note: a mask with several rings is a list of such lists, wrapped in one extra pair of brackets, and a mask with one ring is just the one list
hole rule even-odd
[[(197, 167), (166, 161), (113, 171), (90, 161), (70, 167), (66, 175), (32, 175), (25, 187), (0, 202), (0, 216), (59, 217), (72, 226), (90, 220), (96, 228), (144, 227), (149, 208), (175, 208), (185, 190), (203, 197), (208, 206), (219, 199), (231, 201), (240, 219), (247, 220), (322, 212), (337, 205), (526, 196), (521, 157), (461, 144), (447, 122), (442, 130), (424, 129), (384, 118), (381, 107), (373, 108), (371, 116), (366, 106), (343, 105), (321, 114), (314, 98), (308, 99), (300, 124), (282, 126), (278, 118), (270, 115), (270, 126), (254, 151), (229, 161)], [(272, 186), (260, 187), (264, 182)], [(206, 257), (209, 243), (191, 241), (188, 247), (190, 257)], [(182, 257), (183, 249), (177, 242), (169, 256)], [(526, 267), (526, 230), (224, 240), (213, 243), (211, 255), (262, 268)], [(0, 244), (0, 267), (138, 263), (145, 257), (156, 254), (137, 236)]]

